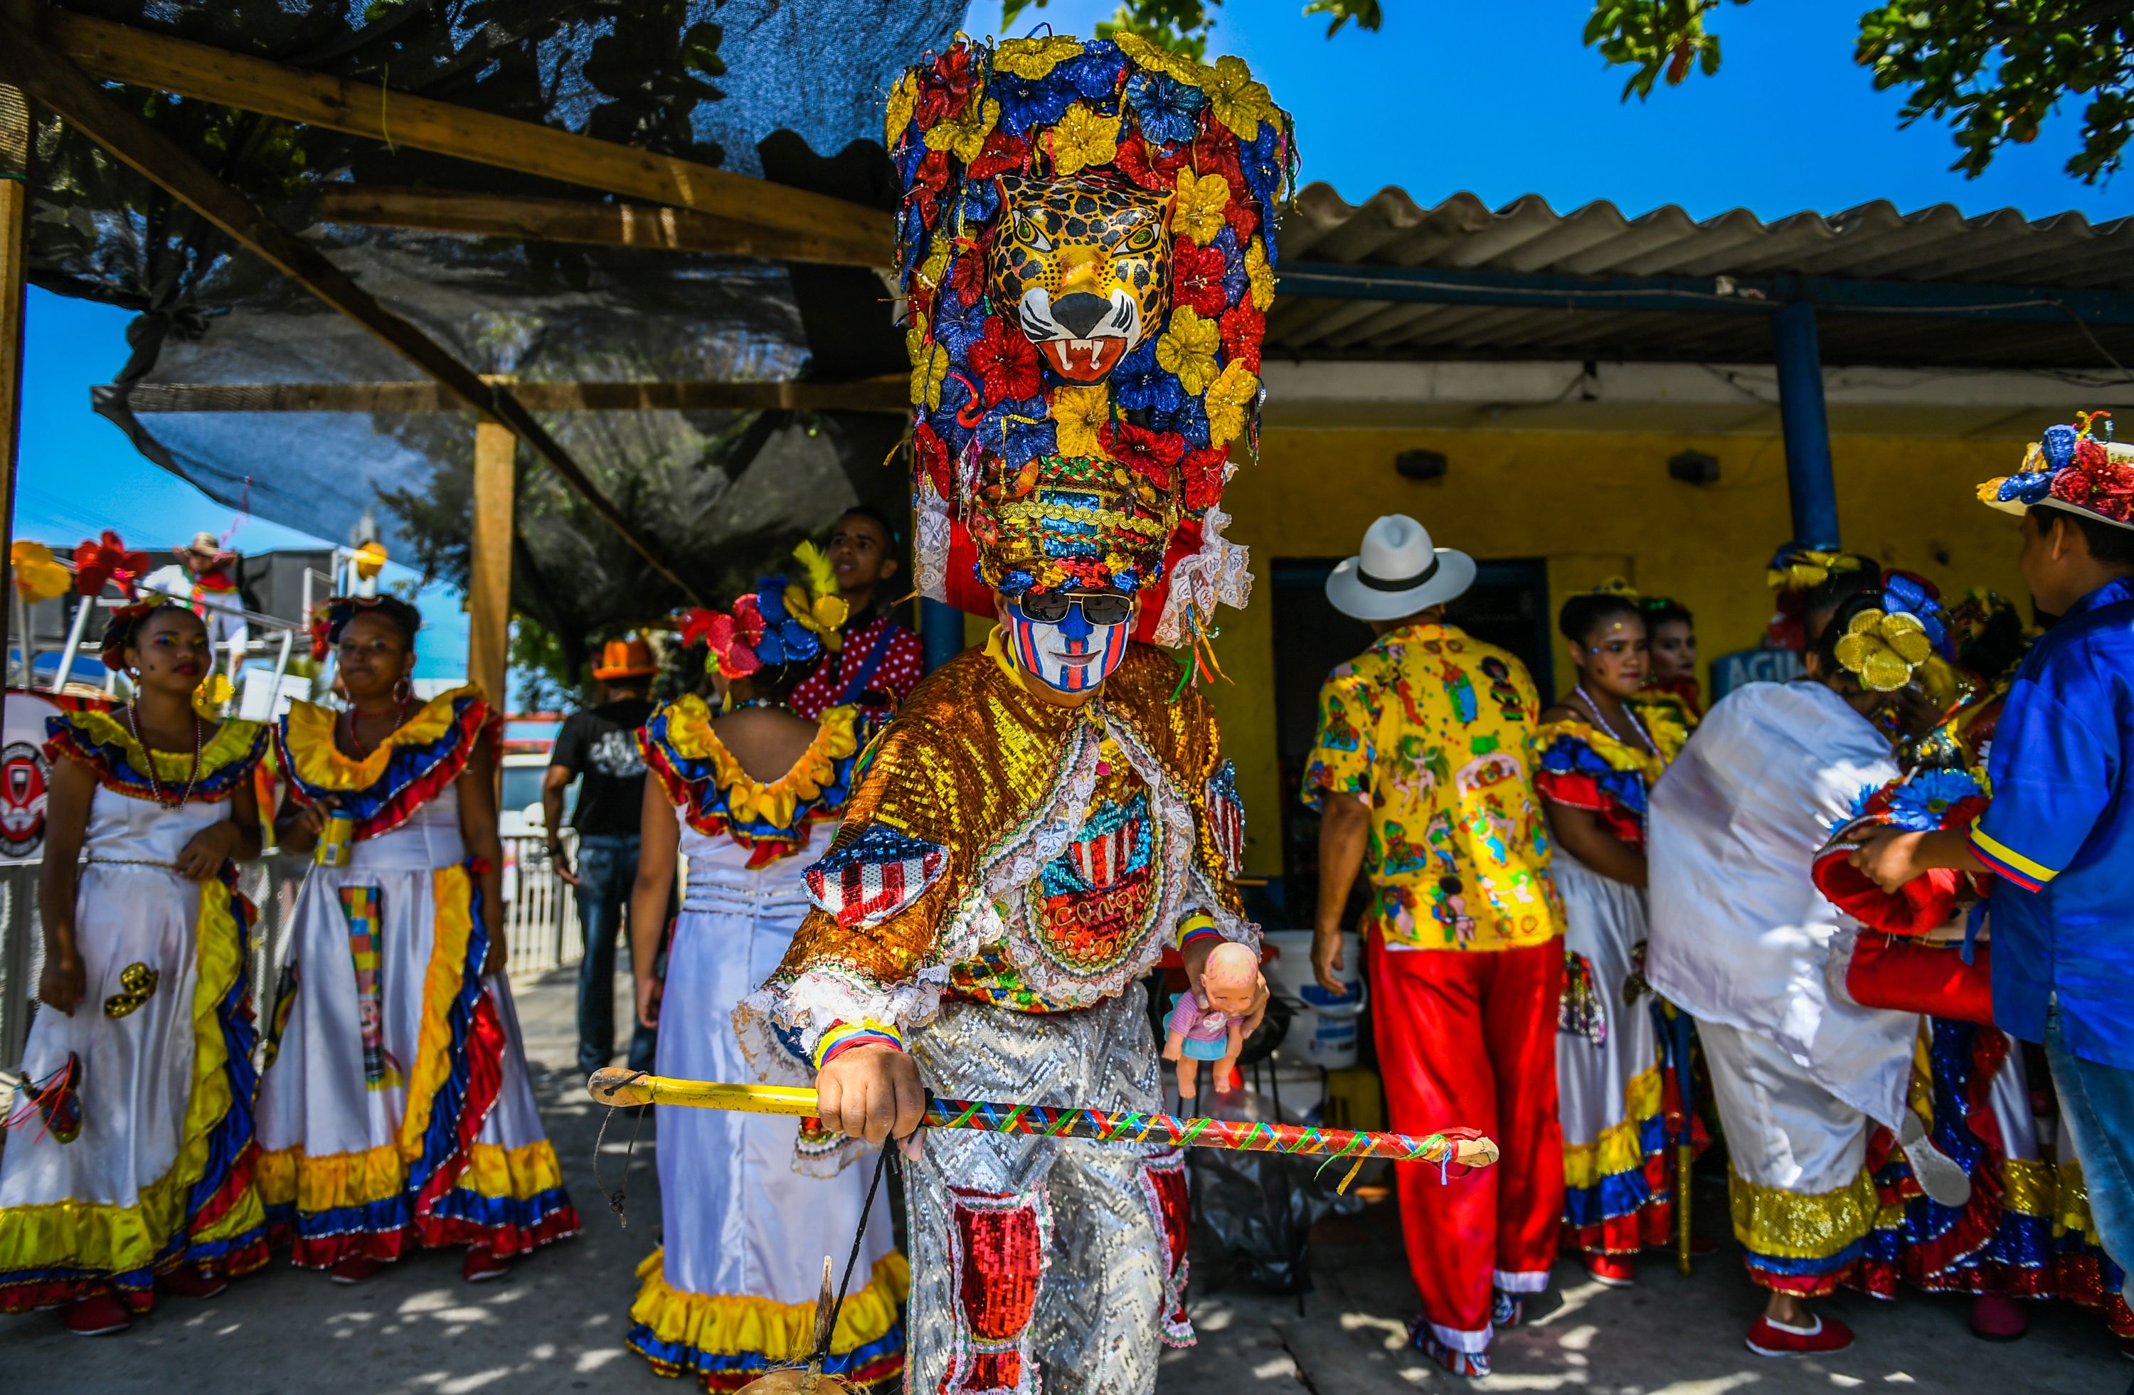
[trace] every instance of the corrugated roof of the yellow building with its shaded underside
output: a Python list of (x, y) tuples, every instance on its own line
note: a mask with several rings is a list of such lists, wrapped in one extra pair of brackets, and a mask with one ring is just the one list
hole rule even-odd
[[(1944, 286), (2134, 292), (2134, 218), (1965, 218), (1950, 205), (1763, 222), (1746, 209), (1694, 220), (1679, 207), (1626, 218), (1611, 203), (1554, 211), (1541, 196), (1490, 209), (1475, 194), (1421, 207), (1387, 188), (1361, 205), (1327, 183), (1297, 194), (1280, 226), (1283, 264), (1408, 267), (1556, 275), (1812, 275)], [(1955, 365), (2113, 371), (2134, 365), (2134, 326), (1953, 320), (1820, 309), (1831, 365)], [(1769, 363), (1763, 316), (1562, 305), (1428, 305), (1283, 294), (1268, 354), (1295, 358), (1622, 358)]]

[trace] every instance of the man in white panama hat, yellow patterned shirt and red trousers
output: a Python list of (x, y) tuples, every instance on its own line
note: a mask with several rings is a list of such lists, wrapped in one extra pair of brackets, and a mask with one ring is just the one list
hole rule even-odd
[(1502, 1148), (1460, 1186), (1398, 1177), (1421, 1293), (1411, 1342), (1458, 1376), (1487, 1376), (1494, 1329), (1547, 1286), (1564, 1207), (1541, 698), (1513, 655), (1445, 623), (1472, 584), (1475, 559), (1434, 546), (1415, 518), (1370, 525), (1327, 576), (1327, 602), (1379, 640), (1327, 676), (1304, 776), (1323, 817), (1312, 966), (1332, 992), (1342, 907), (1357, 872), (1370, 877), (1361, 932), (1391, 1126), (1460, 1122)]

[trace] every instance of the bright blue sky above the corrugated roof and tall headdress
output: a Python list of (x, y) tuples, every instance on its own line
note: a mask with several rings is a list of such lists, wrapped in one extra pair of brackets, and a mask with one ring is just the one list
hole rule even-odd
[[(1088, 34), (1112, 0), (1050, 0), (1016, 32), (1052, 23)], [(1430, 207), (1468, 190), (1498, 207), (1541, 194), (1558, 211), (1607, 198), (1637, 215), (1679, 203), (1697, 218), (1746, 207), (1763, 218), (1835, 213), (1874, 198), (1904, 211), (1953, 203), (2134, 213), (2134, 175), (2096, 190), (2061, 173), (2081, 109), (2034, 145), (2006, 147), (1978, 179), (1948, 173), (1944, 126), (1897, 130), (1897, 92), (1852, 62), (1867, 0), (1752, 0), (1711, 15), (1718, 77), (1620, 102), (1624, 70), (1579, 45), (1590, 0), (1385, 0), (1385, 28), (1325, 38), (1304, 0), (1229, 0), (1210, 53), (1236, 53), (1297, 117), (1304, 179), (1351, 203), (1394, 183)], [(999, 0), (965, 28), (997, 34)]]

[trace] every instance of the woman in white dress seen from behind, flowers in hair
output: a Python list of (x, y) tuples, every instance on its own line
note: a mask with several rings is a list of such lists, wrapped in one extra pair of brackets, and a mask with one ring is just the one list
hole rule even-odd
[[(813, 570), (813, 567), (811, 567)], [(830, 847), (858, 759), (858, 710), (798, 717), (787, 698), (834, 642), (834, 582), (802, 593), (764, 578), (734, 614), (696, 612), (711, 640), (719, 712), (689, 695), (640, 734), (644, 825), (630, 907), (638, 1015), (659, 1026), (657, 1075), (753, 1079), (730, 1026), (734, 1007), (779, 966), (809, 911), (807, 868)], [(749, 604), (753, 602), (753, 604)], [(766, 640), (768, 636), (768, 640)], [(666, 956), (676, 855), (687, 857)], [(822, 1261), (843, 1267), (860, 1229), (873, 1154), (794, 1120), (657, 1105), (662, 1248), (640, 1267), (630, 1348), (664, 1376), (738, 1391), (813, 1348)], [(843, 1171), (841, 1171), (843, 1169)], [(903, 1374), (898, 1303), (909, 1290), (890, 1239), (888, 1188), (875, 1197), (854, 1288), (824, 1369), (854, 1384)]]

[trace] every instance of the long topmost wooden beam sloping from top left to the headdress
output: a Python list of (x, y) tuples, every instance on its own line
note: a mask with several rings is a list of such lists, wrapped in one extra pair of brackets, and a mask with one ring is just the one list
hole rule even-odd
[(894, 241), (890, 215), (845, 198), (749, 179), (536, 122), (408, 96), (373, 83), (243, 58), (60, 9), (45, 11), (38, 32), (92, 77), (495, 164), (625, 198), (717, 213), (773, 232), (837, 243), (845, 250), (843, 258), (862, 267), (890, 264)]

